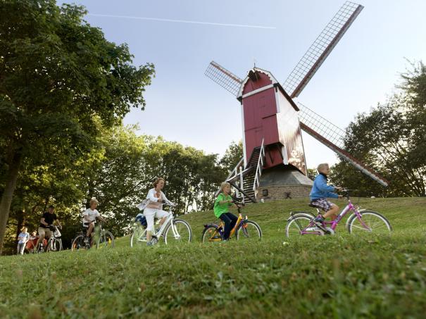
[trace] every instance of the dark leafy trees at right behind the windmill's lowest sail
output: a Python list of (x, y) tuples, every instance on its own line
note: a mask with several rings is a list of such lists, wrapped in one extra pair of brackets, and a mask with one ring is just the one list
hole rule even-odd
[(425, 196), (426, 68), (421, 62), (402, 75), (387, 104), (356, 117), (346, 129), (345, 148), (390, 181), (384, 189), (347, 163), (334, 166), (332, 180), (362, 189), (365, 196)]

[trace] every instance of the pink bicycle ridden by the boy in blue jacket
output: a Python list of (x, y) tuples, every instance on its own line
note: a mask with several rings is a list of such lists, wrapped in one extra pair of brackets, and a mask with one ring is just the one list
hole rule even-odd
[[(352, 233), (375, 233), (375, 234), (386, 234), (391, 232), (392, 227), (389, 220), (384, 215), (375, 211), (368, 211), (360, 209), (359, 206), (352, 204), (349, 198), (349, 192), (351, 189), (344, 189), (344, 197), (348, 200), (348, 204), (343, 209), (337, 218), (334, 220), (325, 220), (322, 225), (317, 225), (314, 222), (315, 215), (313, 213), (296, 211), (290, 213), (290, 218), (287, 220), (287, 226), (285, 227), (285, 234), (287, 237), (294, 235), (305, 235), (305, 234), (316, 234), (324, 236), (325, 234), (334, 234), (334, 230), (340, 223), (342, 218), (352, 212), (346, 220), (346, 229), (350, 234)], [(309, 204), (309, 206), (317, 209), (318, 215), (320, 210)]]

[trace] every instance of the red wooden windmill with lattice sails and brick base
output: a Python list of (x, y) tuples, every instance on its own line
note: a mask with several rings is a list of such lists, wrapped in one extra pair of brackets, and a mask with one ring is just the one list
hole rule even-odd
[(280, 85), (267, 70), (253, 67), (244, 79), (212, 61), (206, 76), (237, 97), (242, 108), (243, 157), (227, 177), (244, 201), (283, 196), (307, 196), (301, 130), (349, 161), (373, 180), (388, 182), (344, 150), (344, 130), (293, 101), (306, 87), (363, 6), (346, 1)]

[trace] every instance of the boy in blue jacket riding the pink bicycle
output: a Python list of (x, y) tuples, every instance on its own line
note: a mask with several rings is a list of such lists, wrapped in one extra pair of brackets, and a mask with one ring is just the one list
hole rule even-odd
[(330, 168), (327, 163), (318, 165), (317, 170), (318, 175), (315, 177), (315, 180), (313, 180), (313, 186), (311, 194), (309, 194), (309, 198), (311, 199), (311, 204), (313, 206), (325, 211), (324, 215), (319, 215), (315, 218), (316, 223), (322, 224), (325, 218), (339, 214), (339, 206), (327, 201), (327, 198), (341, 199), (342, 195), (337, 195), (334, 192), (342, 191), (343, 188), (327, 185), (327, 175), (330, 173)]

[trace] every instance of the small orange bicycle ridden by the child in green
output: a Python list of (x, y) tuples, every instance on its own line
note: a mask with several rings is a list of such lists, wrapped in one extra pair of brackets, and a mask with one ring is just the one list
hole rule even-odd
[[(262, 239), (262, 230), (258, 223), (249, 220), (247, 216), (244, 218), (241, 213), (241, 208), (244, 206), (236, 199), (233, 200), (238, 208), (238, 219), (232, 228), (230, 238), (235, 236), (237, 240), (245, 241), (259, 241)], [(220, 220), (219, 225), (216, 223), (204, 225), (203, 234), (201, 235), (201, 242), (222, 242), (224, 235), (225, 224)]]

